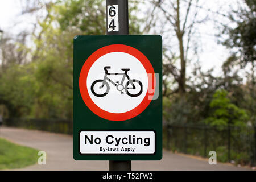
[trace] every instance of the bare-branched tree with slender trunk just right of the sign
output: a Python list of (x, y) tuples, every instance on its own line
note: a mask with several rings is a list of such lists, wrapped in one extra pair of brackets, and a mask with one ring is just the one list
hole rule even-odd
[[(186, 70), (192, 43), (195, 45), (194, 51), (197, 52), (197, 40), (193, 39), (192, 35), (196, 32), (196, 25), (207, 20), (207, 17), (199, 18), (198, 3), (198, 0), (152, 1), (154, 8), (151, 24), (159, 27), (162, 35), (178, 45), (177, 49), (168, 45), (163, 50), (164, 96), (170, 96), (172, 93), (183, 96), (186, 92)], [(179, 65), (176, 64), (177, 61)], [(167, 91), (170, 75), (177, 83), (177, 88), (172, 88), (172, 92)], [(174, 85), (172, 84), (172, 87)]]

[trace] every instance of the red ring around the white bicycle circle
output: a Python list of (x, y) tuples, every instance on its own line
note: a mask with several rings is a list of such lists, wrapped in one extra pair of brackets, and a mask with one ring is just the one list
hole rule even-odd
[[(143, 98), (142, 102), (135, 107), (134, 109), (127, 111), (126, 113), (110, 113), (108, 111), (105, 111), (98, 107), (92, 99), (89, 96), (88, 90), (87, 90), (87, 76), (88, 72), (90, 70), (90, 67), (92, 67), (93, 63), (100, 58), (101, 56), (110, 53), (110, 52), (124, 52), (129, 53), (130, 55), (136, 57), (139, 61), (141, 61), (142, 65), (146, 69), (147, 74), (150, 73), (152, 76), (154, 76), (154, 79), (150, 79), (148, 77), (148, 89), (152, 88), (150, 91), (146, 93), (146, 96)], [(86, 80), (86, 81), (84, 81)], [(84, 65), (82, 66), (80, 77), (79, 77), (79, 89), (81, 93), (82, 100), (84, 100), (86, 106), (96, 115), (98, 115), (101, 118), (110, 120), (110, 121), (125, 121), (131, 118), (136, 117), (137, 115), (141, 114), (143, 110), (147, 108), (147, 106), (150, 104), (151, 99), (150, 95), (154, 96), (155, 93), (155, 72), (154, 68), (152, 67), (150, 61), (147, 59), (145, 55), (138, 49), (135, 49), (130, 46), (126, 46), (123, 44), (112, 44), (109, 46), (102, 47), (98, 49), (97, 51), (93, 52), (92, 55), (88, 57), (88, 59), (85, 61)], [(152, 86), (150, 85), (152, 84)], [(153, 89), (154, 88), (154, 89)]]

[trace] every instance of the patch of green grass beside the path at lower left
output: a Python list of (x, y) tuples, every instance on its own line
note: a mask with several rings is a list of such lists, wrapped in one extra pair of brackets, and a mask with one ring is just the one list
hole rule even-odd
[(37, 160), (38, 150), (0, 138), (0, 170), (26, 167), (35, 164)]

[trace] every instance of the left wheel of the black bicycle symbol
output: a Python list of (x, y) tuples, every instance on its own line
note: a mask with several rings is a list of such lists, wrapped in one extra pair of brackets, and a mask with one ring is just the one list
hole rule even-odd
[(90, 86), (90, 90), (94, 96), (104, 97), (109, 93), (109, 84), (104, 80), (95, 80)]

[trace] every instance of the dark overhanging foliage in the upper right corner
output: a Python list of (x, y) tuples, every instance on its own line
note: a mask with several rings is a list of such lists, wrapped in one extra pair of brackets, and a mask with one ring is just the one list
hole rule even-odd
[(229, 35), (229, 38), (222, 42), (229, 48), (238, 48), (240, 53), (240, 64), (245, 66), (247, 63), (253, 63), (256, 59), (256, 1), (245, 0), (246, 8), (240, 7), (232, 11), (229, 19), (236, 24), (235, 28), (224, 27), (223, 32)]

